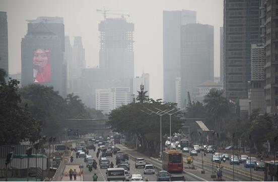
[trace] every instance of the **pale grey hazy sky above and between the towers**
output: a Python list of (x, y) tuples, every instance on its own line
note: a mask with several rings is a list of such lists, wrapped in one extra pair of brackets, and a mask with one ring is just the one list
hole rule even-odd
[[(63, 17), (65, 35), (81, 36), (86, 66), (99, 63), (98, 23), (103, 15), (96, 9), (124, 10), (134, 23), (135, 76), (150, 73), (150, 97), (163, 98), (163, 11), (192, 10), (197, 23), (215, 30), (215, 76), (219, 76), (220, 27), (223, 26), (223, 0), (0, 0), (0, 11), (7, 12), (9, 72), (21, 72), (21, 39), (27, 32), (25, 20), (39, 16)], [(108, 15), (109, 17), (117, 17)], [(119, 16), (118, 16), (119, 17)]]

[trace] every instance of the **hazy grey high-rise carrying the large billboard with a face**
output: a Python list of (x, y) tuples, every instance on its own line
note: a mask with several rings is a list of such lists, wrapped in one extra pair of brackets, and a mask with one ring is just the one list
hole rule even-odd
[(28, 20), (28, 30), (21, 42), (22, 85), (32, 83), (53, 86), (66, 96), (64, 25), (60, 17)]

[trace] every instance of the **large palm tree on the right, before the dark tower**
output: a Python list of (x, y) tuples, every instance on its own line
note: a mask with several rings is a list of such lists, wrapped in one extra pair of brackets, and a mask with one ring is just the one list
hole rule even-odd
[(204, 96), (203, 102), (206, 104), (208, 113), (215, 119), (215, 130), (220, 132), (223, 118), (229, 114), (229, 101), (223, 97), (223, 90), (211, 89), (210, 93)]

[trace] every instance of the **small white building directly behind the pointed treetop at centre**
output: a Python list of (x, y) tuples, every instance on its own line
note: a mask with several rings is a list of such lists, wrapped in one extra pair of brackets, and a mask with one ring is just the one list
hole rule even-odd
[[(149, 73), (143, 73), (141, 77), (135, 77), (130, 80), (130, 101), (133, 102), (133, 96), (136, 98), (137, 91), (141, 90), (141, 85), (144, 85), (144, 91), (147, 91), (146, 95), (150, 96), (150, 75)], [(135, 100), (136, 102), (136, 100)]]

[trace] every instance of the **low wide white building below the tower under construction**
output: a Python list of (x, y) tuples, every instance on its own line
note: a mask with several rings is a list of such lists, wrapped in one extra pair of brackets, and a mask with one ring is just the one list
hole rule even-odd
[(96, 109), (109, 114), (113, 109), (130, 103), (128, 87), (96, 89)]

